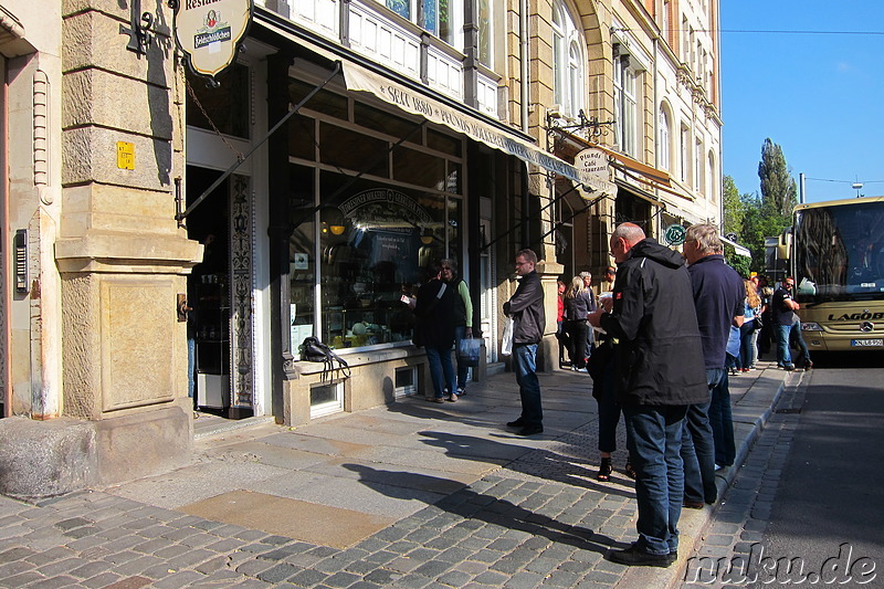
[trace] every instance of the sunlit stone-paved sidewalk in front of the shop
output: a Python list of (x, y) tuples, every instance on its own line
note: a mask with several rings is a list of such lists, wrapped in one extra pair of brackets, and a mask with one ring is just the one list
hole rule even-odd
[[(783, 376), (734, 379), (741, 452)], [(172, 473), (36, 504), (0, 497), (0, 587), (672, 586), (677, 567), (603, 559), (635, 535), (624, 452), (612, 482), (597, 482), (589, 380), (540, 378), (537, 439), (501, 425), (518, 407), (501, 374), (456, 403), (408, 398), (294, 430), (264, 423), (207, 435)], [(681, 566), (709, 518), (691, 512)]]

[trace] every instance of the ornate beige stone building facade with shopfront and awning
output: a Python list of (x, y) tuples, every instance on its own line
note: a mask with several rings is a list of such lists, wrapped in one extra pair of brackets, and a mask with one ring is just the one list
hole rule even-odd
[[(166, 2), (143, 52), (128, 4), (51, 4), (0, 7), (7, 494), (180, 464), (194, 410), (423, 395), (402, 296), (433, 259), (469, 284), (481, 379), (537, 251), (551, 368), (556, 278), (609, 264), (617, 223), (720, 218), (714, 0), (259, 0), (212, 84)], [(311, 335), (349, 372), (302, 361)]]

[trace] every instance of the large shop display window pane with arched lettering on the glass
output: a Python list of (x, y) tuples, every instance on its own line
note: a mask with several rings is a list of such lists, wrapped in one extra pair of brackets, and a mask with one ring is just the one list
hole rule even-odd
[[(423, 267), (460, 242), (445, 197), (322, 172), (324, 214), (340, 214), (340, 232), (322, 232), (320, 337), (335, 348), (410, 341), (413, 296)], [(334, 210), (330, 210), (334, 208)]]

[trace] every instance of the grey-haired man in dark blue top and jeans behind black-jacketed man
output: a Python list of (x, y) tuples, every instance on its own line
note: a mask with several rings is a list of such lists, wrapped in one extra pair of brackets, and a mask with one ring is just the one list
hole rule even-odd
[(725, 351), (730, 326), (743, 325), (746, 287), (737, 271), (725, 263), (722, 255), (724, 245), (714, 225), (691, 225), (683, 249), (694, 290), (709, 388), (709, 397), (702, 403), (692, 404), (685, 419), (682, 439), (684, 505), (702, 508), (704, 503), (712, 505), (718, 498), (715, 456), (720, 455), (725, 463), (729, 462), (720, 466), (730, 466), (736, 455)]

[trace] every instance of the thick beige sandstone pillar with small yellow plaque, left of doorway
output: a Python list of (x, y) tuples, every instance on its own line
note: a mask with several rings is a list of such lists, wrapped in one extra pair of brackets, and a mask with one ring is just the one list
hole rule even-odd
[[(128, 3), (71, 0), (62, 24), (62, 404), (95, 424), (102, 483), (172, 467), (192, 448), (177, 312), (202, 246), (175, 219), (183, 75), (171, 10), (144, 8), (155, 17), (145, 55), (120, 34)], [(130, 169), (119, 149), (134, 152)]]

